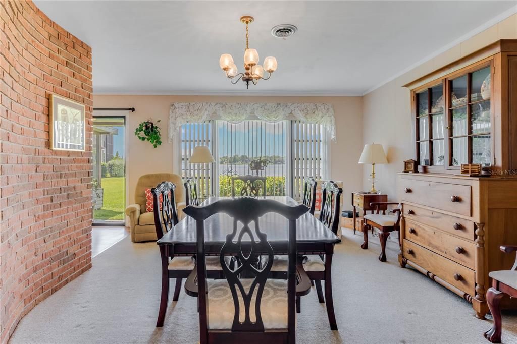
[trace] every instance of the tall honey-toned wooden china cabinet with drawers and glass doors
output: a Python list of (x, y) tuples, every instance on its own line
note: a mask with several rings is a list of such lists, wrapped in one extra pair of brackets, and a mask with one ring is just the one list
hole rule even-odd
[[(405, 85), (419, 173), (400, 173), (402, 267), (488, 312), (488, 274), (517, 244), (517, 40), (499, 40)], [(460, 175), (481, 164), (483, 177)], [(510, 303), (508, 306), (513, 306)]]

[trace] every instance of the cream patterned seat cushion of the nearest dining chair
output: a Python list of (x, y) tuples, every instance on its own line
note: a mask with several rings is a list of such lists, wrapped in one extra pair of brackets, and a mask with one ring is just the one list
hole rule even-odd
[[(249, 290), (253, 279), (240, 279), (245, 290)], [(232, 291), (226, 279), (208, 280), (208, 328), (231, 329), (235, 306)], [(256, 288), (256, 287), (255, 287)], [(256, 292), (251, 300), (250, 319), (255, 321), (254, 305)], [(244, 302), (240, 299), (240, 321), (244, 321)], [(268, 279), (261, 300), (261, 316), (264, 328), (287, 329), (287, 280)]]

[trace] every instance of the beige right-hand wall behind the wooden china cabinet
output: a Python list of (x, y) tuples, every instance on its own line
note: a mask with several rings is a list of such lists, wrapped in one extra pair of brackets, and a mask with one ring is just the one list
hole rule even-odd
[[(496, 40), (514, 38), (517, 38), (517, 14), (513, 14), (363, 97), (364, 143), (382, 144), (389, 162), (387, 165), (375, 166), (376, 177), (379, 179), (376, 189), (388, 193), (391, 200), (396, 200), (395, 173), (404, 169), (404, 160), (415, 159), (410, 91), (403, 88), (402, 85), (473, 53)], [(368, 176), (370, 173), (371, 166), (364, 166), (363, 189), (369, 190)]]

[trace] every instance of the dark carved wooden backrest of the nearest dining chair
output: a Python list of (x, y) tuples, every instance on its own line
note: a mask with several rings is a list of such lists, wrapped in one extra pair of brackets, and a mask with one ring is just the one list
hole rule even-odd
[[(197, 291), (199, 295), (201, 343), (245, 342), (264, 336), (275, 342), (294, 342), (296, 328), (296, 220), (309, 209), (303, 205), (288, 206), (272, 199), (242, 197), (222, 199), (204, 207), (190, 206), (184, 212), (193, 217), (197, 229)], [(220, 251), (221, 267), (233, 298), (233, 322), (228, 329), (212, 331), (208, 307), (209, 290), (205, 263), (205, 220), (211, 215), (225, 213), (232, 218), (233, 230), (227, 234)], [(261, 302), (264, 287), (273, 263), (273, 249), (265, 232), (261, 231), (259, 218), (276, 213), (288, 220), (288, 272), (287, 272), (287, 324), (286, 329), (267, 331), (264, 325)], [(273, 215), (273, 214), (270, 214)], [(255, 265), (256, 256), (267, 256), (266, 264)], [(237, 263), (230, 267), (226, 256), (237, 256)], [(249, 278), (239, 278), (246, 276)], [(243, 283), (244, 282), (244, 283)], [(249, 286), (249, 287), (248, 287)], [(285, 292), (285, 291), (283, 291)], [(285, 294), (283, 294), (285, 295)], [(215, 302), (215, 301), (214, 301)], [(283, 330), (283, 331), (278, 331)], [(224, 334), (222, 334), (224, 333)], [(276, 337), (278, 336), (278, 337)], [(274, 339), (273, 339), (274, 338)]]

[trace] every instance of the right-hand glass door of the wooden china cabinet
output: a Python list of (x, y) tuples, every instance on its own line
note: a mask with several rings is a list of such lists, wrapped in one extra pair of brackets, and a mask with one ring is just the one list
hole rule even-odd
[(491, 66), (448, 81), (449, 166), (492, 164)]

